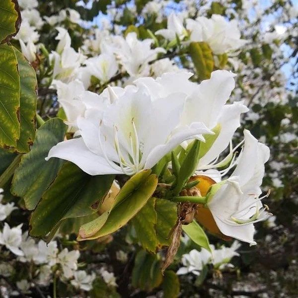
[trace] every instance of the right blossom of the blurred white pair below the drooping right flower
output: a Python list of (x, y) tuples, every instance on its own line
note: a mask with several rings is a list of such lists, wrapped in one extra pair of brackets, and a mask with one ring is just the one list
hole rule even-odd
[(215, 268), (224, 269), (226, 267), (233, 267), (229, 264), (230, 260), (234, 256), (239, 256), (236, 250), (241, 246), (238, 241), (234, 241), (231, 247), (222, 246), (220, 249), (215, 249), (214, 245), (211, 245), (213, 252), (212, 263)]

